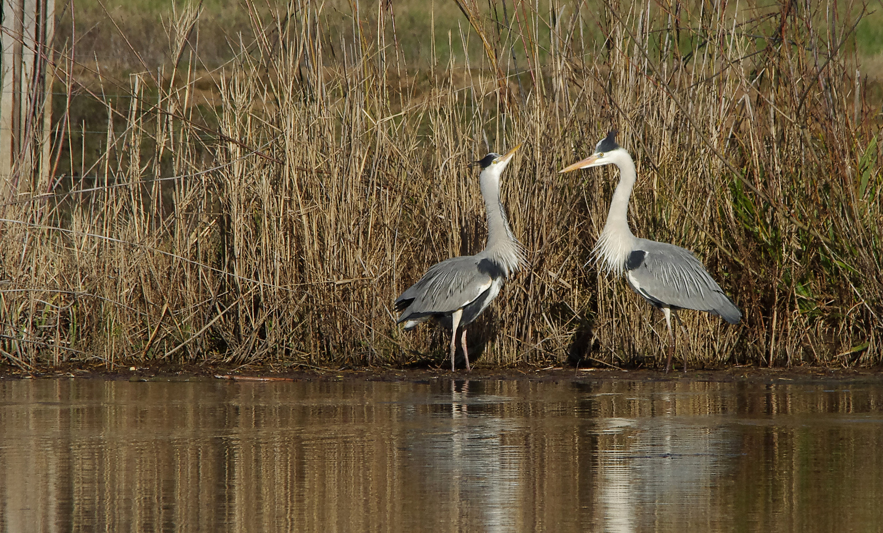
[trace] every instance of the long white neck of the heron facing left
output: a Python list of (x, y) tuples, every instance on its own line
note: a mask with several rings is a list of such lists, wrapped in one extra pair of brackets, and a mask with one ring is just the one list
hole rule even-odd
[(635, 244), (635, 236), (629, 228), (629, 199), (637, 173), (635, 162), (628, 153), (623, 151), (617, 155), (614, 162), (619, 168), (619, 184), (610, 200), (608, 220), (598, 237), (594, 252), (595, 258), (604, 263), (608, 272), (622, 274)]

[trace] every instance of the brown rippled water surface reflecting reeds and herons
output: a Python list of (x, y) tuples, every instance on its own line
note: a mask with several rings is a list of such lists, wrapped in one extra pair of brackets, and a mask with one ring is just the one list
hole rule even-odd
[(878, 531), (883, 385), (0, 381), (0, 531)]

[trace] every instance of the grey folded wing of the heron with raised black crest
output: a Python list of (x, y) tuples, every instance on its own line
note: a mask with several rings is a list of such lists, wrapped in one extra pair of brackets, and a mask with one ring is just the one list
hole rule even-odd
[(680, 246), (638, 239), (626, 265), (626, 276), (632, 289), (657, 307), (711, 312), (730, 324), (742, 319), (742, 312), (706, 267)]

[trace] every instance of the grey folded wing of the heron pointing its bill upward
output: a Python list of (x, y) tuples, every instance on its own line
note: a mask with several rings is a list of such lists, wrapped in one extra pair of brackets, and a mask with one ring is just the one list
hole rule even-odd
[(436, 263), (396, 298), (396, 323), (434, 314), (447, 314), (475, 301), (491, 287), (493, 278), (479, 268), (475, 256), (456, 257)]

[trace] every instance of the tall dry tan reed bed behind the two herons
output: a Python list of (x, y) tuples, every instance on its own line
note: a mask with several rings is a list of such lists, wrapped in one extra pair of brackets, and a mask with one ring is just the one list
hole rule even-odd
[[(209, 71), (200, 11), (175, 11), (131, 98), (92, 90), (107, 135), (82, 172), (0, 207), (7, 364), (442, 363), (444, 332), (404, 334), (392, 302), (480, 250), (465, 164), (523, 142), (502, 196), (530, 266), (472, 325), (479, 364), (658, 365), (661, 313), (592, 261), (615, 170), (557, 174), (610, 128), (638, 165), (636, 235), (695, 251), (744, 313), (681, 313), (676, 357), (883, 360), (862, 4), (457, 0), (462, 23), (432, 26), (419, 61), (394, 4), (349, 4), (348, 26), (325, 4), (244, 5), (253, 40)], [(72, 54), (68, 94), (87, 69)], [(53, 154), (70, 139), (61, 113)]]

